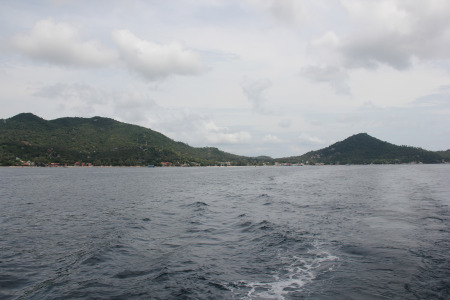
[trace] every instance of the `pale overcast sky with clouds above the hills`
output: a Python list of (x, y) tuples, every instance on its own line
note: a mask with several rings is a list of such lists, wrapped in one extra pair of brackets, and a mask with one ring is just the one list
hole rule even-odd
[(102, 116), (274, 158), (450, 148), (448, 0), (0, 0), (0, 118)]

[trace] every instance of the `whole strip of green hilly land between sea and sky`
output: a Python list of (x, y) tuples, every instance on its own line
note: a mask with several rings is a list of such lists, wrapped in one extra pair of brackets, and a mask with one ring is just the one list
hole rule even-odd
[[(450, 161), (450, 150), (432, 152), (396, 146), (360, 133), (327, 148), (276, 161), (287, 164), (439, 163)], [(22, 113), (0, 122), (0, 166), (204, 166), (274, 162), (267, 156), (252, 158), (212, 147), (191, 147), (151, 129), (102, 117), (47, 121)]]

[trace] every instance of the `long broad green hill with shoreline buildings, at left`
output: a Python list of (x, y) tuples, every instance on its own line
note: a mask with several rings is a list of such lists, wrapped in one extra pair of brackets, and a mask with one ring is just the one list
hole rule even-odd
[(73, 165), (215, 165), (252, 164), (259, 160), (220, 151), (194, 148), (161, 133), (109, 118), (44, 120), (31, 113), (0, 123), (0, 165), (49, 163)]

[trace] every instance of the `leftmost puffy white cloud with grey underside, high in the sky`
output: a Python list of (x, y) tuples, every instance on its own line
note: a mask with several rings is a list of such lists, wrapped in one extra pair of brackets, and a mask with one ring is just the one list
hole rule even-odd
[(97, 41), (84, 41), (78, 29), (52, 19), (40, 20), (28, 35), (15, 35), (11, 47), (36, 60), (51, 64), (100, 67), (117, 59), (114, 51)]

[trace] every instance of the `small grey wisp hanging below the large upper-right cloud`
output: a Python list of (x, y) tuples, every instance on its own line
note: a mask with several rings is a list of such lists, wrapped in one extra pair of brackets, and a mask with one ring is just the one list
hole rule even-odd
[(350, 94), (349, 76), (345, 69), (333, 66), (307, 66), (300, 74), (312, 82), (329, 83), (337, 94)]

